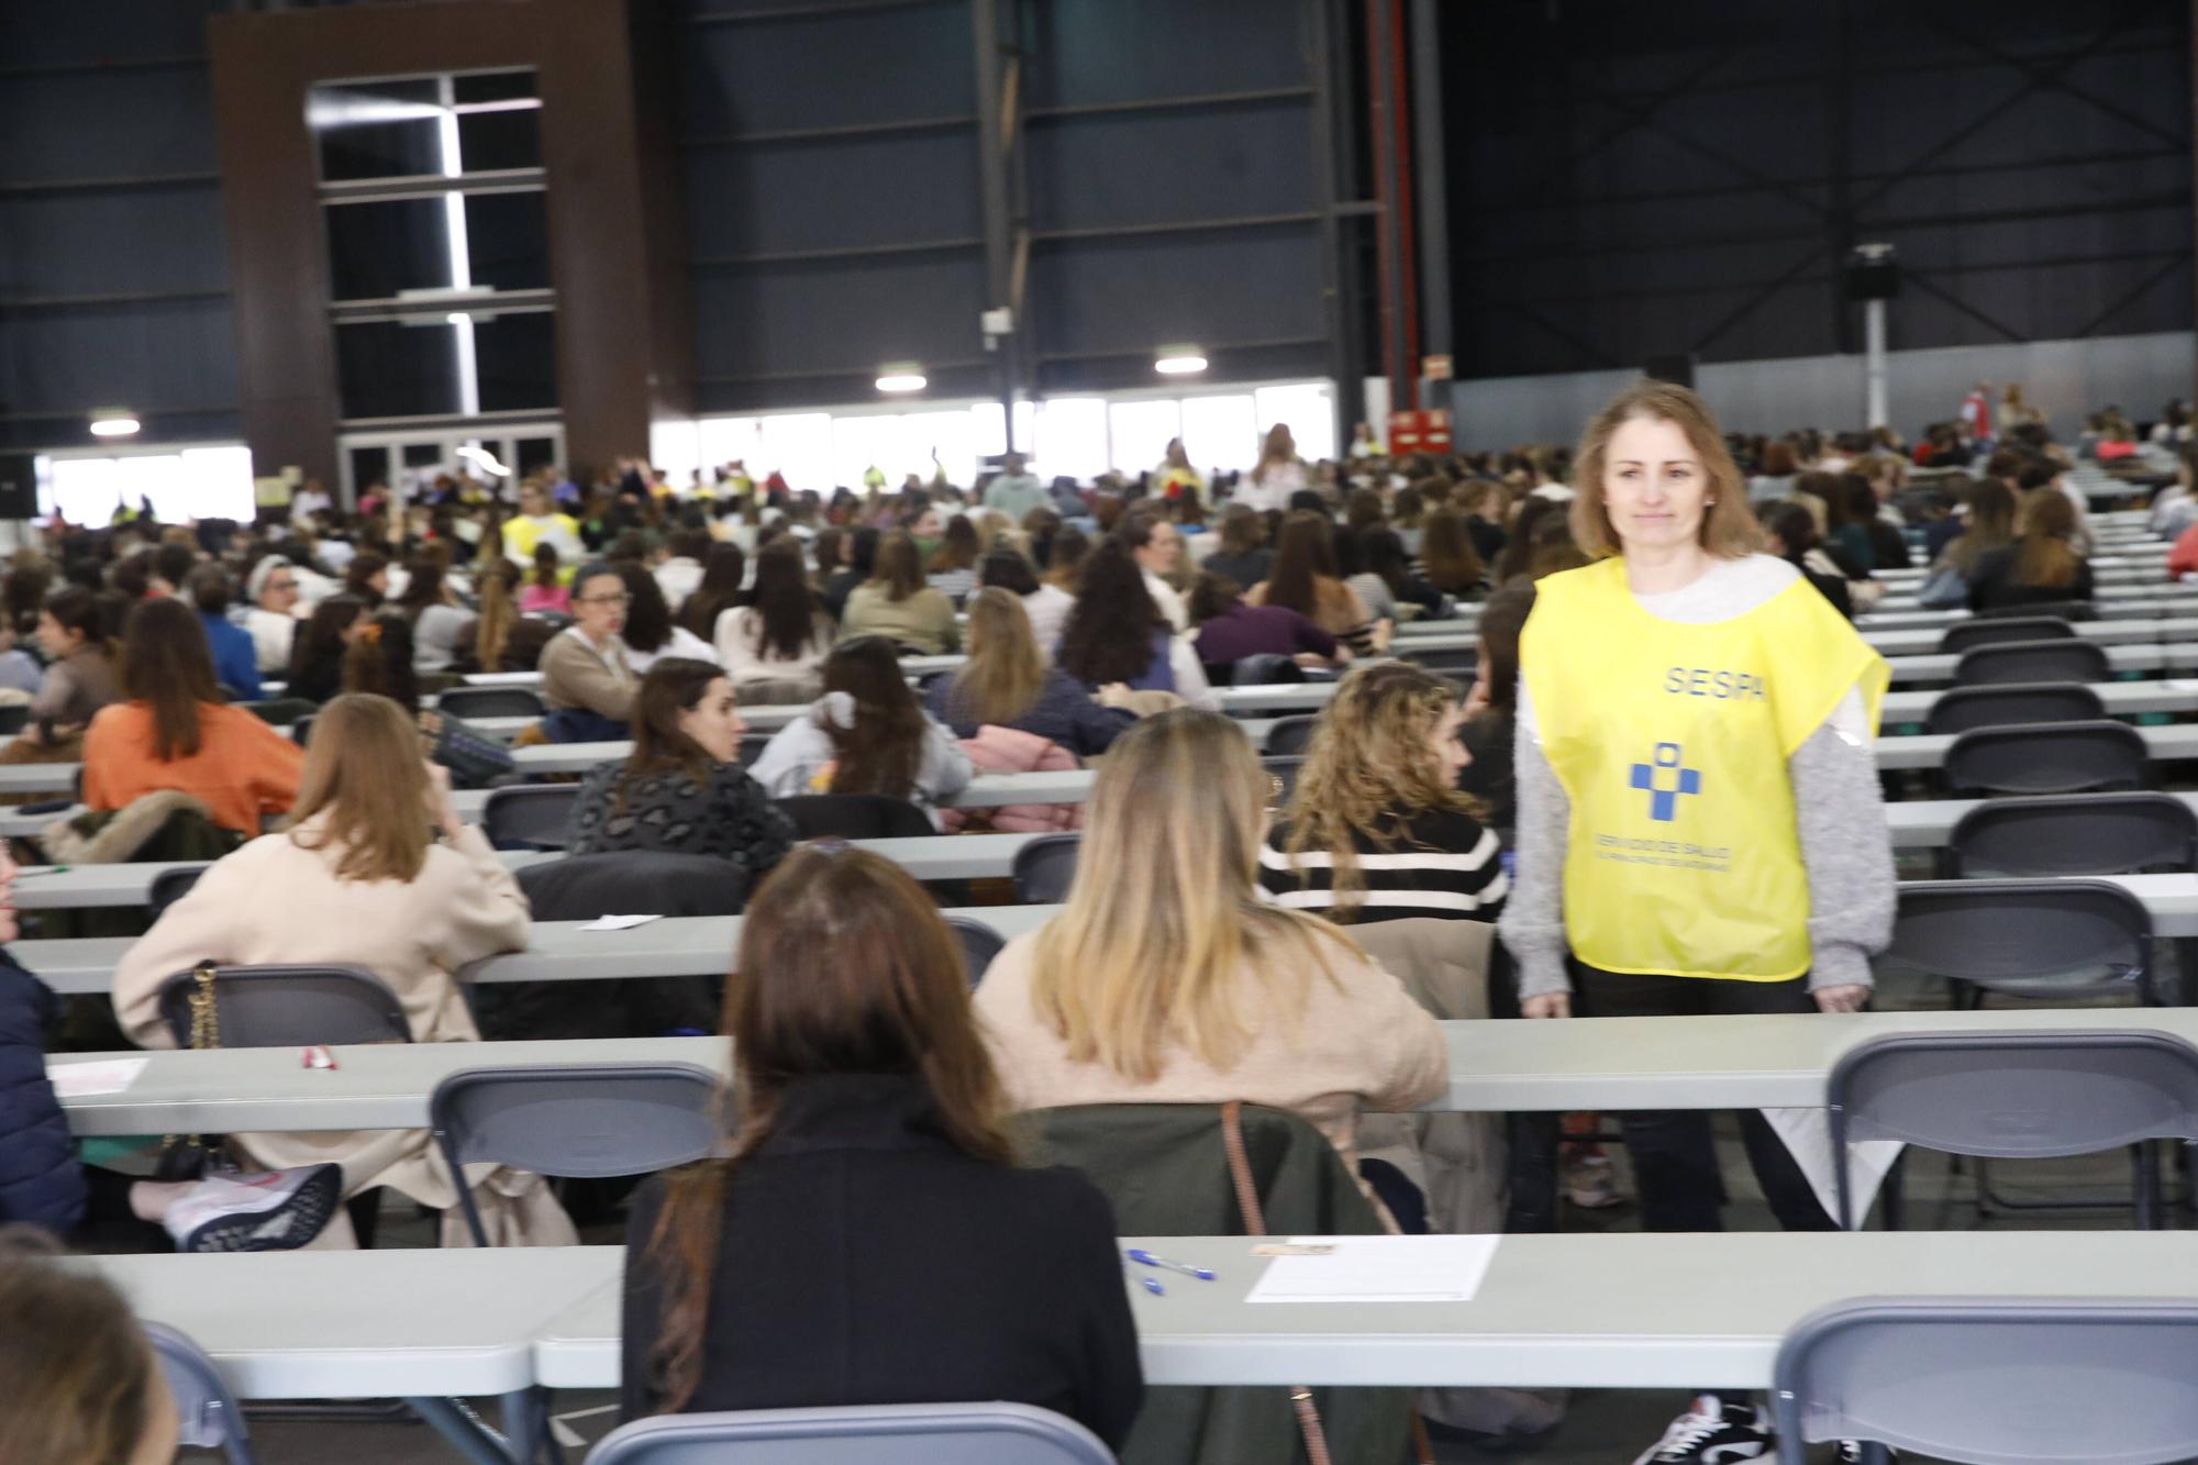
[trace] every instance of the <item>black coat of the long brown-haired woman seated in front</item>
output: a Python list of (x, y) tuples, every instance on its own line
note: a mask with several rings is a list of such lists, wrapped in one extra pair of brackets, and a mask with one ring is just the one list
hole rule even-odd
[[(657, 1408), (662, 1183), (626, 1232), (626, 1419)], [(919, 1078), (785, 1091), (732, 1172), (688, 1410), (1004, 1399), (1119, 1447), (1143, 1395), (1114, 1212), (1088, 1179), (963, 1155)]]

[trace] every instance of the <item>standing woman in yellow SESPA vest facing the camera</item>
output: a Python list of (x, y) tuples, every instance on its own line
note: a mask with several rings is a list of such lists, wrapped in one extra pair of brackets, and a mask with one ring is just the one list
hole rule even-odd
[[(1572, 532), (1521, 636), (1519, 878), (1499, 922), (1528, 1016), (1853, 1012), (1892, 928), (1870, 737), (1886, 662), (1783, 559), (1710, 409), (1640, 383), (1587, 425)], [(1703, 1111), (1629, 1111), (1642, 1227), (1721, 1230)], [(1787, 1230), (1831, 1225), (1767, 1120), (1747, 1159)], [(1655, 1458), (1761, 1454), (1697, 1401)], [(1648, 1456), (1644, 1456), (1648, 1458)]]

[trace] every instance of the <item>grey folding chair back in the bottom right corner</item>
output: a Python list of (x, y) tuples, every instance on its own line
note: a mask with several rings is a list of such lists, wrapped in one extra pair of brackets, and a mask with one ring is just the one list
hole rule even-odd
[[(2066, 1390), (2079, 1388), (2082, 1408)], [(1864, 1443), (1974, 1465), (2198, 1456), (2198, 1304), (1853, 1298), (1778, 1344), (1780, 1447)]]

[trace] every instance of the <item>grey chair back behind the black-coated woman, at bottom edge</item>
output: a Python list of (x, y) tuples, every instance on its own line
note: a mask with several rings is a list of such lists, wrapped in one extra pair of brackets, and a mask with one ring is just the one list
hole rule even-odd
[(659, 1414), (611, 1430), (587, 1465), (1114, 1465), (1073, 1419), (1029, 1403), (862, 1403)]

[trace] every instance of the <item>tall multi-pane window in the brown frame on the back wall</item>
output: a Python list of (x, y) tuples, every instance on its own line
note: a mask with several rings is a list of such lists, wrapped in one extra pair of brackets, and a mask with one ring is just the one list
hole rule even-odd
[(345, 422), (554, 414), (534, 73), (328, 81), (306, 121)]

